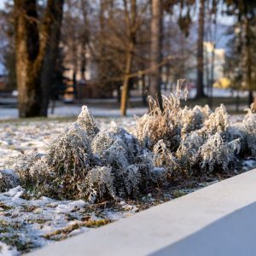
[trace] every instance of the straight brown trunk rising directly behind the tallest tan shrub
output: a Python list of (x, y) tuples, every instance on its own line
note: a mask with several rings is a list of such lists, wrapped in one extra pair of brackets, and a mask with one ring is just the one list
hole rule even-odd
[(160, 108), (162, 109), (162, 97), (160, 92), (161, 76), (159, 63), (161, 61), (161, 42), (162, 42), (162, 10), (161, 1), (152, 0), (151, 2), (151, 76), (150, 76), (150, 87), (149, 95), (153, 96), (155, 100), (159, 102)]

